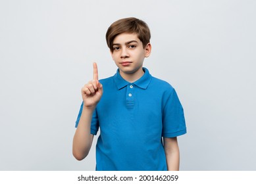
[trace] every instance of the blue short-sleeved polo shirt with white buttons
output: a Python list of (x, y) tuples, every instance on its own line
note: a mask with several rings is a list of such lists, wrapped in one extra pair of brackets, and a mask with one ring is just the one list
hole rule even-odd
[(119, 70), (100, 80), (104, 92), (91, 120), (91, 134), (100, 128), (96, 170), (167, 170), (162, 137), (186, 133), (174, 88), (152, 77), (146, 68), (143, 71), (134, 83), (124, 80)]

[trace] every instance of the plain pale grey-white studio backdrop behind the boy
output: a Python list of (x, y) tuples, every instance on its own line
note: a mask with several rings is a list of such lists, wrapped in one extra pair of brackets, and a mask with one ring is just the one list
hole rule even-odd
[[(72, 156), (81, 87), (113, 76), (105, 33), (151, 29), (145, 67), (184, 106), (180, 170), (256, 170), (256, 1), (1, 1), (0, 170), (95, 170)], [(157, 90), (157, 89), (156, 89)], [(98, 133), (99, 134), (99, 133)]]

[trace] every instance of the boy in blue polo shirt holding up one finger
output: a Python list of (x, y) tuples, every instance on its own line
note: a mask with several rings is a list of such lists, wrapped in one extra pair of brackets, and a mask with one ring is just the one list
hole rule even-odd
[(93, 63), (93, 80), (82, 88), (73, 155), (88, 155), (100, 127), (96, 170), (179, 170), (176, 137), (186, 133), (183, 108), (172, 86), (143, 68), (150, 37), (137, 18), (111, 24), (106, 39), (118, 70), (98, 80)]

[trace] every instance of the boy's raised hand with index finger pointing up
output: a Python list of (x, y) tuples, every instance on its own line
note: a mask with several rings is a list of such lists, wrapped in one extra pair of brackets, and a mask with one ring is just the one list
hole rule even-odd
[(81, 89), (84, 107), (94, 109), (103, 94), (103, 86), (99, 83), (98, 68), (93, 62), (93, 80), (89, 81)]

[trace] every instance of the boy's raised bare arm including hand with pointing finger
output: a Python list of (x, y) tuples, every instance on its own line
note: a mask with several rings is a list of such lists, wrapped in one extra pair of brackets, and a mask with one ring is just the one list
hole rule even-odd
[(84, 106), (76, 133), (74, 134), (72, 152), (77, 160), (83, 160), (88, 155), (93, 141), (91, 135), (91, 118), (97, 103), (103, 94), (103, 86), (98, 81), (97, 64), (93, 63), (93, 80), (84, 85), (81, 90)]

